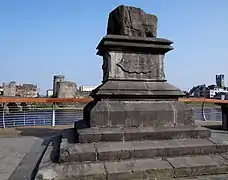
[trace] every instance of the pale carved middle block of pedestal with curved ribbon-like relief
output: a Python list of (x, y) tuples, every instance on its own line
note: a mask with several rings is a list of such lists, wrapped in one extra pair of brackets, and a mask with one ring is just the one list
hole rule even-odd
[(164, 55), (109, 52), (104, 55), (103, 81), (121, 80), (164, 80)]

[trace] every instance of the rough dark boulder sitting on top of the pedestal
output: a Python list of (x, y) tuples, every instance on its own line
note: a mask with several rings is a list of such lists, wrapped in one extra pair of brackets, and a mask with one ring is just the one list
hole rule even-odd
[(109, 14), (107, 34), (156, 37), (157, 17), (132, 6), (118, 6)]

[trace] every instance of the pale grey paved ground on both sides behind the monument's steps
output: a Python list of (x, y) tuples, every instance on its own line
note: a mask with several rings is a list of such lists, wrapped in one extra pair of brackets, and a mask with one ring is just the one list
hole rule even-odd
[[(199, 121), (197, 124), (219, 127), (221, 123)], [(67, 128), (71, 128), (71, 126), (0, 130), (0, 180), (7, 180), (10, 177), (37, 141), (43, 141), (47, 136), (59, 134)], [(228, 140), (227, 132), (214, 131), (212, 137), (223, 142)]]

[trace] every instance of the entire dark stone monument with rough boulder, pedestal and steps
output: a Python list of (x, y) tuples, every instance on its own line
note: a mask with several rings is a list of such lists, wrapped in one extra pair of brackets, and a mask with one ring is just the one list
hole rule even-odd
[[(228, 173), (228, 144), (194, 125), (191, 108), (178, 101), (182, 91), (165, 79), (172, 42), (156, 36), (156, 16), (129, 6), (110, 13), (97, 47), (103, 82), (84, 108), (83, 126), (75, 123), (77, 142), (62, 138), (47, 150), (37, 180), (206, 180)], [(53, 156), (58, 163), (50, 163)]]

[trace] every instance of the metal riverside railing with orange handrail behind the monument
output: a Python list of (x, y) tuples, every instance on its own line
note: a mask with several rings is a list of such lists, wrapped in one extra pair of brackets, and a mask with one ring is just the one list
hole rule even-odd
[[(2, 103), (0, 128), (72, 125), (75, 121), (83, 118), (83, 106), (89, 101), (91, 101), (90, 98), (0, 98), (0, 103)], [(6, 105), (12, 102), (19, 103), (19, 106), (21, 106), (21, 102), (30, 105), (29, 108), (8, 107)], [(64, 105), (58, 106), (56, 103)], [(208, 107), (203, 101), (201, 103), (203, 103), (202, 106), (193, 106), (195, 120), (222, 120), (222, 112), (219, 106)]]

